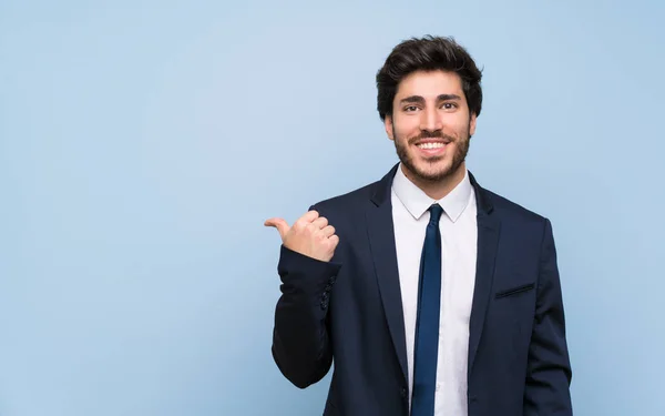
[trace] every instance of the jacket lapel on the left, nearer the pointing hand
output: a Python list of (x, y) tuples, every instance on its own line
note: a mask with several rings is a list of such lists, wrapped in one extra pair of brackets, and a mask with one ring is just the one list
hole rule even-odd
[(388, 328), (402, 369), (402, 375), (405, 379), (408, 379), (405, 321), (397, 268), (392, 204), (390, 201), (390, 187), (397, 166), (375, 185), (375, 192), (371, 197), (372, 204), (369, 204), (366, 211), (366, 220), (371, 258), (386, 313), (386, 321), (388, 322)]

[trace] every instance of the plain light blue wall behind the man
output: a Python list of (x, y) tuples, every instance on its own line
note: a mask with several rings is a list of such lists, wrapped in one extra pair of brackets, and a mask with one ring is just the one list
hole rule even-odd
[(471, 170), (554, 224), (576, 414), (665, 415), (662, 2), (239, 3), (0, 3), (0, 415), (320, 414), (263, 222), (395, 163), (374, 77), (424, 33), (484, 68)]

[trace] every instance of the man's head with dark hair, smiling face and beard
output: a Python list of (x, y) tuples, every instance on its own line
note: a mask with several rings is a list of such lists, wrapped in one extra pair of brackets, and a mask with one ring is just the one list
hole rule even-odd
[(398, 44), (377, 73), (377, 109), (409, 176), (438, 182), (463, 174), (482, 106), (481, 72), (451, 38)]

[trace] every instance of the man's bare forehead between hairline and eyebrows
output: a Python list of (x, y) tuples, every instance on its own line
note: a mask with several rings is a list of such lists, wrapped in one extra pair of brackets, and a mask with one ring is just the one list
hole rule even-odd
[(420, 95), (424, 99), (436, 99), (440, 94), (463, 97), (460, 75), (439, 70), (412, 72), (400, 81), (395, 98), (399, 100), (405, 97)]

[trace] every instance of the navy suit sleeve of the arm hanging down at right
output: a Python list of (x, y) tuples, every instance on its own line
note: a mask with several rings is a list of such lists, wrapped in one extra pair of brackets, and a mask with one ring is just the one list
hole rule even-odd
[(525, 416), (571, 416), (572, 371), (552, 224), (545, 220), (524, 390)]

